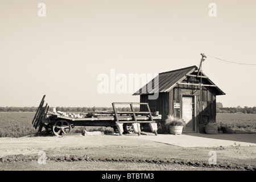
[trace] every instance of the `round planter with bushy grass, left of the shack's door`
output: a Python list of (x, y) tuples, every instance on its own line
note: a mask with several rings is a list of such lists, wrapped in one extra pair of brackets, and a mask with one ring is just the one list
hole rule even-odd
[(167, 129), (169, 129), (170, 134), (180, 135), (185, 122), (183, 119), (173, 117), (172, 115), (167, 115), (167, 119), (164, 124), (166, 125)]

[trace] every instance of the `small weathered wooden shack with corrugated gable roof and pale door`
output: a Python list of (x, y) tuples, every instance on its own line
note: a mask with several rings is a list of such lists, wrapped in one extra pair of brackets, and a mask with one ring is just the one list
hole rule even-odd
[[(148, 99), (156, 92), (158, 98)], [(205, 123), (216, 122), (216, 96), (224, 94), (200, 69), (192, 66), (159, 73), (133, 95), (140, 95), (140, 102), (148, 102), (152, 112), (159, 111), (160, 122), (171, 114), (184, 119), (183, 131), (204, 133)]]

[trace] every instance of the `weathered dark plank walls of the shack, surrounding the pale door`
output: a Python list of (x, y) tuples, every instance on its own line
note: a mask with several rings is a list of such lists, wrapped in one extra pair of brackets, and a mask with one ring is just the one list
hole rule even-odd
[[(183, 80), (186, 83), (198, 84), (200, 78), (187, 77)], [(208, 80), (202, 78), (203, 84), (210, 84)], [(168, 93), (159, 93), (156, 100), (148, 100), (148, 95), (141, 95), (141, 102), (148, 102), (152, 112), (159, 111), (162, 114), (162, 122), (165, 121), (168, 114), (175, 115), (181, 118), (181, 108), (174, 109), (174, 103), (180, 103), (182, 106), (183, 96), (196, 96), (195, 100), (195, 115), (196, 131), (204, 132), (204, 124), (213, 121), (216, 122), (216, 88), (212, 86), (195, 85), (176, 85), (175, 88)], [(146, 110), (146, 107), (141, 107), (141, 110)]]

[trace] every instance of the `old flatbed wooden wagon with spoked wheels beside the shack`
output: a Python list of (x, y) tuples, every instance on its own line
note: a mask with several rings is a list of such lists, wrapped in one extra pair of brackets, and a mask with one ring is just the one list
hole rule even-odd
[[(38, 132), (45, 130), (60, 137), (68, 134), (75, 126), (105, 126), (113, 127), (119, 135), (126, 133), (138, 133), (141, 135), (141, 126), (149, 125), (157, 135), (156, 120), (161, 119), (158, 112), (151, 113), (148, 103), (141, 102), (113, 102), (113, 110), (110, 111), (82, 111), (77, 114), (66, 114), (62, 111), (49, 111), (48, 104), (44, 105), (44, 98), (36, 111), (32, 125)], [(118, 111), (116, 105), (130, 105), (131, 111)], [(144, 105), (147, 111), (135, 111), (134, 105)]]

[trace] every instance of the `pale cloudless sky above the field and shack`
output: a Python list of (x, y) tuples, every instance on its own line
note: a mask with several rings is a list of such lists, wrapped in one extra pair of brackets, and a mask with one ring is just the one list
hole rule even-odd
[(198, 67), (200, 53), (203, 72), (226, 93), (217, 102), (256, 106), (256, 66), (213, 58), (256, 64), (255, 9), (251, 0), (0, 1), (0, 106), (38, 106), (44, 94), (53, 107), (139, 102), (100, 93), (99, 75), (116, 86), (118, 74)]

